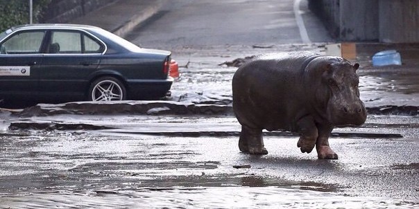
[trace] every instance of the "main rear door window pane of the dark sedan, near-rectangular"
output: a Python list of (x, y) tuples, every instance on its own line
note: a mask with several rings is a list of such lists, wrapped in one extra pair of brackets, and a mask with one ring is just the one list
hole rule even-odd
[(54, 31), (51, 34), (51, 44), (48, 53), (55, 54), (80, 54), (81, 35), (72, 31)]

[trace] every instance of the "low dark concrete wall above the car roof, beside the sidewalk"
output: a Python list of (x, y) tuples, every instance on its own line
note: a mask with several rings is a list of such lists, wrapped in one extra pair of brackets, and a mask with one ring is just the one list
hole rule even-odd
[(40, 23), (67, 23), (114, 1), (116, 0), (53, 0), (42, 12)]

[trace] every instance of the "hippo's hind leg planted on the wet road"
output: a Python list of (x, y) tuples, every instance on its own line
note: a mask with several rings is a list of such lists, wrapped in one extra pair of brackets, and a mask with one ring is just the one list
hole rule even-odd
[(252, 129), (242, 125), (239, 149), (241, 152), (248, 154), (268, 154), (268, 151), (264, 147), (262, 129)]

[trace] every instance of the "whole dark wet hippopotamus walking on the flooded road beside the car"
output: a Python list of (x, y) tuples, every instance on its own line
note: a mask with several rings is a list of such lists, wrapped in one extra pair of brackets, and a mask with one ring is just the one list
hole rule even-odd
[(311, 52), (259, 55), (241, 65), (232, 79), (240, 151), (268, 154), (262, 130), (282, 130), (300, 135), (302, 153), (316, 147), (318, 158), (337, 159), (329, 145), (334, 127), (366, 120), (358, 68), (341, 57)]

